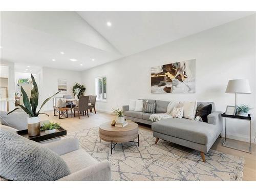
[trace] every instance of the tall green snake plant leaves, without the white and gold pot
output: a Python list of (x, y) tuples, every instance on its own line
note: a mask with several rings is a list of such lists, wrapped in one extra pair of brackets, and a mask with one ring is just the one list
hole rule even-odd
[[(46, 113), (40, 113), (40, 110), (42, 109), (42, 106), (44, 106), (54, 95), (57, 95), (59, 92), (55, 93), (53, 96), (47, 98), (44, 102), (42, 102), (42, 105), (39, 109), (38, 112), (36, 112), (36, 108), (38, 105), (38, 88), (37, 88), (37, 84), (35, 82), (35, 78), (31, 73), (31, 79), (32, 79), (32, 83), (33, 83), (33, 89), (31, 90), (31, 96), (30, 99), (28, 98), (27, 93), (24, 91), (23, 87), (20, 86), (20, 90), (22, 91), (22, 95), (23, 95), (23, 103), (24, 105), (21, 105), (19, 103), (16, 103), (18, 106), (20, 106), (20, 108), (22, 108), (28, 115), (29, 117), (37, 117), (39, 116), (39, 114), (45, 114), (47, 116), (49, 116)], [(10, 111), (8, 114), (14, 112), (17, 109), (20, 108), (15, 108), (14, 110)], [(8, 115), (7, 114), (7, 115)]]

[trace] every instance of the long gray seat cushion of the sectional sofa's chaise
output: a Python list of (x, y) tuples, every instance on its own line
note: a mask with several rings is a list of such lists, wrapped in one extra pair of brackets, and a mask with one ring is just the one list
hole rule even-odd
[(222, 129), (216, 125), (189, 119), (169, 118), (152, 123), (154, 132), (206, 145)]

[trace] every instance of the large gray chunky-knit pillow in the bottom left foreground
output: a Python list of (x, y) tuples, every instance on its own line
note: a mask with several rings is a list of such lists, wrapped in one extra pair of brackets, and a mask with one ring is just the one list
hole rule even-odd
[(0, 129), (0, 177), (9, 181), (55, 181), (70, 174), (66, 162), (41, 144)]

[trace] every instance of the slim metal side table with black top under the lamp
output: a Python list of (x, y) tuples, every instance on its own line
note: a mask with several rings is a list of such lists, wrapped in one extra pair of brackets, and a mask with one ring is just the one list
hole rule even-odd
[[(224, 122), (225, 122), (225, 138), (222, 143), (222, 146), (233, 148), (234, 150), (239, 150), (242, 152), (247, 152), (251, 153), (251, 115), (248, 115), (248, 117), (243, 117), (243, 116), (238, 116), (238, 115), (226, 115), (225, 113), (221, 114), (222, 117), (224, 117)], [(226, 139), (226, 118), (231, 118), (231, 119), (240, 119), (240, 120), (245, 120), (245, 121), (250, 121), (250, 145), (249, 145), (249, 150), (241, 149), (236, 146), (234, 146), (234, 142), (228, 142)]]

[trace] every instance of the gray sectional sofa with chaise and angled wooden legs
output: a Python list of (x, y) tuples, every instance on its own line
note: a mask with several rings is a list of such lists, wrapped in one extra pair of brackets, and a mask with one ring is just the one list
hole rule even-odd
[[(148, 100), (148, 102), (156, 102), (156, 113), (166, 113), (169, 101)], [(223, 130), (223, 121), (222, 112), (215, 111), (214, 102), (197, 102), (197, 105), (201, 103), (203, 105), (212, 105), (212, 113), (207, 116), (208, 123), (185, 118), (168, 118), (152, 122), (150, 120), (151, 114), (129, 111), (129, 105), (123, 106), (123, 114), (125, 119), (150, 124), (153, 136), (156, 137), (155, 144), (160, 138), (193, 148), (201, 152), (202, 160), (205, 162), (204, 153), (210, 150), (212, 144), (220, 136)]]

